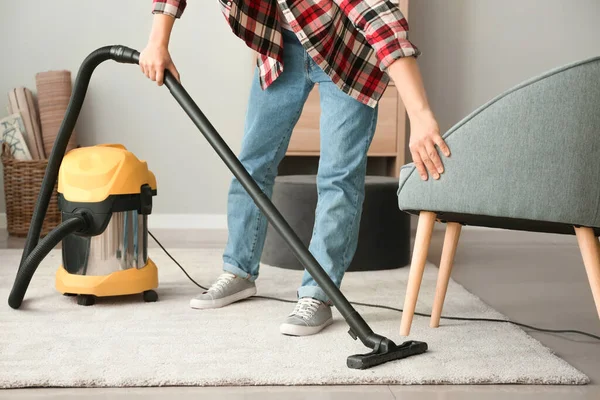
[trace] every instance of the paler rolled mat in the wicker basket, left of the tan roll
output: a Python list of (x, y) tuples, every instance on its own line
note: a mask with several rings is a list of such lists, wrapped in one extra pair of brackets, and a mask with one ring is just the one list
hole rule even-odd
[(45, 159), (40, 117), (31, 90), (24, 87), (12, 89), (8, 93), (8, 110), (10, 114), (21, 114), (25, 126), (24, 139), (33, 159)]

